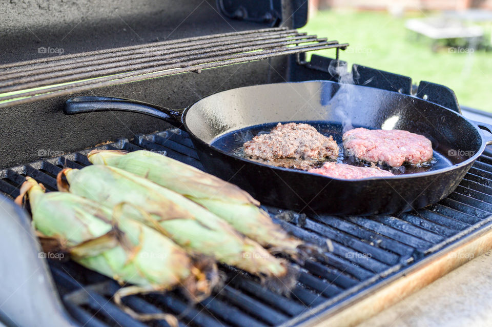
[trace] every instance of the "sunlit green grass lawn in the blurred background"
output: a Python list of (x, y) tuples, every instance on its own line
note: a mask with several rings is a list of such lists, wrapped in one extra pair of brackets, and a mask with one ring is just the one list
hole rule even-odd
[[(449, 53), (444, 46), (433, 52), (430, 40), (415, 40), (405, 29), (406, 19), (414, 17), (418, 15), (395, 18), (382, 12), (320, 11), (301, 30), (350, 43), (340, 52), (340, 59), (350, 65), (410, 76), (414, 84), (420, 80), (443, 84), (455, 91), (461, 105), (492, 112), (492, 52)], [(316, 53), (335, 55), (334, 50)]]

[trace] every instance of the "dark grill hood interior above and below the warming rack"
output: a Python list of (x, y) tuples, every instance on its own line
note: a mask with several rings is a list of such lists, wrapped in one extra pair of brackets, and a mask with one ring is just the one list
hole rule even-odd
[[(57, 56), (60, 49), (67, 55), (215, 33), (298, 28), (308, 17), (308, 3), (300, 0), (26, 0), (2, 2), (0, 10), (0, 47), (4, 49), (0, 65)], [(51, 53), (56, 51), (52, 49), (58, 53)], [(211, 93), (289, 80), (292, 57), (147, 79), (70, 96), (112, 95), (185, 108)], [(132, 113), (66, 117), (61, 108), (70, 96), (0, 109), (4, 135), (0, 167), (36, 160), (40, 149), (67, 153), (169, 128), (157, 119)]]

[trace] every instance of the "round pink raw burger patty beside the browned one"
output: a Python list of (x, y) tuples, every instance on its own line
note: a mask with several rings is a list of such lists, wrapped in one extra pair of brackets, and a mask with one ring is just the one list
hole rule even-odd
[(432, 159), (432, 143), (425, 136), (402, 130), (356, 128), (343, 134), (348, 155), (369, 162), (385, 162), (399, 167), (404, 162), (417, 165)]

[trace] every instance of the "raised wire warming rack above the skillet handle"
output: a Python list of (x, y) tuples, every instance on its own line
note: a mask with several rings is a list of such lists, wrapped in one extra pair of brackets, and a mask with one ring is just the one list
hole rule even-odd
[(208, 35), (0, 65), (0, 108), (131, 81), (320, 49), (345, 49), (296, 30)]

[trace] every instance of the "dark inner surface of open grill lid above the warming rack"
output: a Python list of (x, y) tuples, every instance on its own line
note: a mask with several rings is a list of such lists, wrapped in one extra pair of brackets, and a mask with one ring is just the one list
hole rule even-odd
[(219, 33), (295, 29), (308, 19), (308, 2), (301, 0), (13, 0), (0, 3), (0, 10), (0, 64)]

